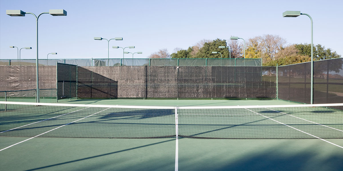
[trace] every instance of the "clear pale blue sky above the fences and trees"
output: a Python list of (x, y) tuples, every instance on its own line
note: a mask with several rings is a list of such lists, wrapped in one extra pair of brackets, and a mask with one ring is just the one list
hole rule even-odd
[[(147, 58), (159, 49), (187, 49), (202, 39), (225, 39), (238, 36), (248, 40), (263, 34), (279, 35), (289, 44), (311, 43), (310, 19), (301, 15), (283, 18), (288, 10), (301, 11), (313, 18), (314, 44), (322, 44), (343, 55), (342, 0), (0, 0), (0, 59), (36, 58), (34, 16), (11, 17), (6, 10), (22, 10), (36, 15), (49, 9), (64, 9), (67, 16), (39, 17), (39, 58), (121, 58), (128, 47), (135, 58)], [(125, 58), (131, 58), (125, 54)]]

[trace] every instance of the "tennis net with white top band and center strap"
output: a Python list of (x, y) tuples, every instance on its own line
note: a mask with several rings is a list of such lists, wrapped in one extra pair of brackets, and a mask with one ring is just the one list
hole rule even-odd
[(0, 136), (342, 139), (343, 104), (166, 107), (0, 102)]

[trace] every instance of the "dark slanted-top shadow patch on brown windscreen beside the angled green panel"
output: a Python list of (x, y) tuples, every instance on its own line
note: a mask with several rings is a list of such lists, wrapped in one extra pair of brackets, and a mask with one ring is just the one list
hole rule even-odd
[(78, 97), (117, 98), (117, 91), (117, 81), (78, 67)]

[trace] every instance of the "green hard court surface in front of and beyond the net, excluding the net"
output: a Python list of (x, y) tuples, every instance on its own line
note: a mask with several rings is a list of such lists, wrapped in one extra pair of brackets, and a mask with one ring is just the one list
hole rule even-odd
[[(296, 104), (279, 100), (125, 99), (64, 100), (59, 101), (59, 103), (143, 106)], [(268, 113), (265, 114), (267, 115)], [(69, 122), (64, 118), (61, 120), (64, 120), (63, 122), (66, 123)], [(56, 125), (54, 126), (59, 125), (60, 123), (56, 122)], [(341, 129), (340, 125), (341, 124), (338, 124), (338, 129)], [(77, 125), (74, 124), (74, 126)], [(96, 128), (89, 130), (94, 131), (95, 129)], [(73, 130), (70, 131), (73, 132)], [(266, 132), (271, 131), (273, 130), (267, 130)], [(38, 136), (30, 139), (33, 136), (0, 136), (1, 170), (164, 171), (175, 170), (176, 159), (178, 160), (178, 170), (180, 171), (336, 171), (342, 170), (343, 168), (343, 139), (325, 139), (325, 141), (323, 141), (321, 139), (243, 140), (179, 138), (177, 143), (178, 148), (176, 148), (177, 141), (175, 137), (159, 139), (108, 139)], [(178, 154), (176, 154), (176, 152), (178, 152)]]

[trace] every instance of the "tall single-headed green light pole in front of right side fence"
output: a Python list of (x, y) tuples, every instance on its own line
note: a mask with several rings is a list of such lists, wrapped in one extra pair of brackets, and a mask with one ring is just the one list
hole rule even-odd
[(311, 20), (311, 104), (313, 104), (313, 21), (312, 21), (312, 17), (306, 13), (300, 13), (300, 11), (285, 11), (282, 13), (282, 17), (297, 17), (299, 15), (307, 15)]

